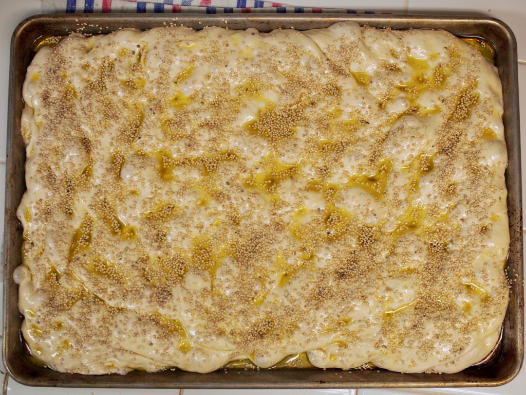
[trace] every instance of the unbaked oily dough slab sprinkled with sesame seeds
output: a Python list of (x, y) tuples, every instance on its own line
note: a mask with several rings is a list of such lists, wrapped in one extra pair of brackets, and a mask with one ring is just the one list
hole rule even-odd
[(492, 350), (507, 153), (473, 47), (353, 22), (46, 44), (16, 272), (46, 366), (448, 373)]

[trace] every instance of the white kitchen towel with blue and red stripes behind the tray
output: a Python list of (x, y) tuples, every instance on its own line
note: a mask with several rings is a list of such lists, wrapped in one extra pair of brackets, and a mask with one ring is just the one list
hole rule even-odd
[(264, 0), (42, 0), (43, 13), (338, 13), (374, 14), (341, 8), (293, 7)]

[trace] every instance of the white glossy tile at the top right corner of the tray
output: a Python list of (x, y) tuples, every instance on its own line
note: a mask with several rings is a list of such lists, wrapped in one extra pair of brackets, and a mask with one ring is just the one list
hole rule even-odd
[(409, 0), (409, 13), (469, 13), (488, 15), (509, 25), (517, 38), (519, 60), (526, 61), (526, 2), (524, 0)]

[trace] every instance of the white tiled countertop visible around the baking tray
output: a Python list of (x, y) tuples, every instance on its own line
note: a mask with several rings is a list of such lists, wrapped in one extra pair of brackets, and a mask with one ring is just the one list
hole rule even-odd
[[(392, 11), (399, 13), (441, 13), (488, 15), (507, 23), (517, 37), (519, 50), (519, 94), (520, 114), (526, 122), (526, 1), (524, 0), (281, 0), (285, 4), (306, 7), (340, 7), (358, 10)], [(41, 0), (0, 0), (0, 185), (5, 185), (5, 155), (7, 129), (7, 91), (9, 77), (9, 46), (11, 35), (16, 25), (24, 18), (41, 13)], [(521, 149), (526, 158), (526, 132), (521, 133)], [(526, 160), (522, 172), (526, 174)], [(525, 185), (522, 193), (526, 196)], [(0, 207), (4, 205), (4, 191), (0, 191)], [(523, 207), (524, 211), (524, 207)], [(0, 222), (3, 223), (4, 210), (0, 210)], [(4, 229), (0, 227), (0, 240), (3, 240)], [(3, 279), (2, 279), (3, 283)], [(0, 317), (3, 308), (0, 307)], [(1, 361), (0, 361), (1, 362)], [(5, 368), (0, 363), (0, 383), (4, 381)], [(118, 389), (61, 389), (31, 388), (18, 384), (12, 379), (5, 379), (4, 393), (10, 395), (27, 394), (37, 391), (38, 395), (410, 395), (420, 394), (470, 394), (470, 395), (521, 395), (526, 388), (526, 367), (523, 366), (519, 376), (511, 383), (496, 388), (465, 389), (325, 389), (325, 390), (118, 390)]]

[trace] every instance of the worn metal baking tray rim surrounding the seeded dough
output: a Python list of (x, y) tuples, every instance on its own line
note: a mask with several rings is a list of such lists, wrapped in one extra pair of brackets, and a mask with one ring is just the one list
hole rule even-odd
[[(502, 339), (493, 356), (454, 374), (401, 374), (383, 369), (276, 369), (219, 370), (207, 374), (181, 370), (157, 373), (133, 371), (125, 376), (83, 376), (60, 373), (32, 361), (21, 337), (22, 316), (18, 312), (18, 287), (13, 270), (21, 263), (22, 227), (16, 209), (26, 186), (25, 148), (20, 133), (23, 108), (22, 83), (38, 42), (48, 36), (66, 35), (83, 27), (83, 33), (109, 33), (119, 27), (148, 29), (171, 23), (196, 29), (227, 26), (230, 29), (255, 27), (259, 31), (294, 27), (299, 30), (327, 27), (341, 21), (394, 29), (445, 29), (457, 36), (479, 37), (493, 46), (504, 93), (505, 139), (509, 164), (505, 173), (508, 187), (508, 215), (511, 244), (508, 275), (512, 280), (510, 302), (505, 316)], [(347, 15), (347, 14), (221, 14), (221, 15), (36, 15), (16, 28), (11, 43), (9, 72), (9, 110), (7, 127), (7, 174), (5, 197), (5, 271), (4, 271), (4, 361), (7, 371), (18, 382), (50, 387), (134, 387), (134, 388), (401, 388), (401, 387), (482, 387), (498, 386), (512, 380), (523, 360), (523, 251), (522, 196), (519, 130), (519, 92), (517, 44), (509, 27), (497, 19), (473, 16), (423, 15)]]

